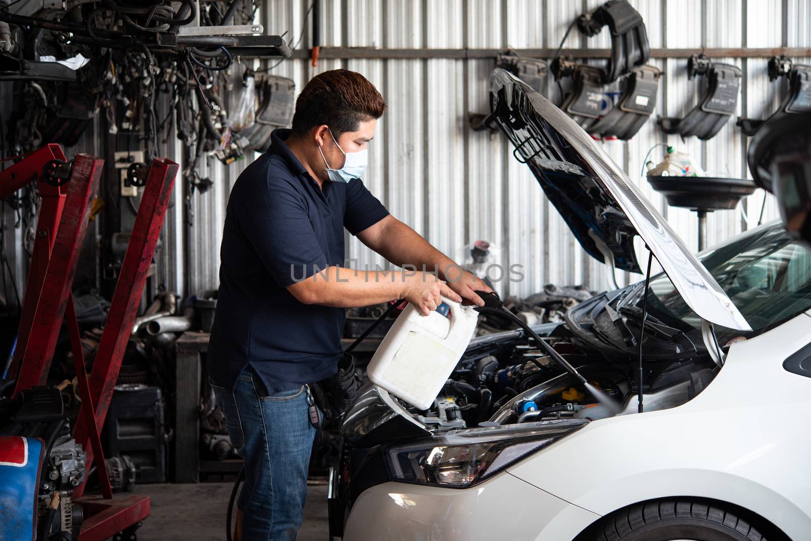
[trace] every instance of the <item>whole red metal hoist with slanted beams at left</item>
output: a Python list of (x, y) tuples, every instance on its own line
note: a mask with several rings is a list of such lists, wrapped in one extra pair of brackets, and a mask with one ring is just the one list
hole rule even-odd
[(0, 173), (0, 198), (31, 181), (39, 181), (42, 205), (20, 316), (15, 354), (19, 375), (14, 392), (17, 394), (30, 386), (45, 385), (62, 319), (67, 319), (79, 394), (83, 402), (74, 437), (87, 453), (88, 471), (94, 454), (97, 456), (97, 471), (103, 493), (103, 497), (79, 498), (84, 492), (84, 484), (74, 491), (74, 501), (84, 507), (84, 524), (79, 541), (101, 541), (119, 531), (134, 530), (149, 515), (148, 496), (113, 499), (99, 433), (178, 171), (178, 164), (172, 161), (157, 159), (152, 162), (94, 370), (88, 378), (71, 283), (88, 227), (92, 195), (96, 193), (103, 164), (104, 160), (79, 154), (73, 167), (68, 168), (62, 149), (49, 144)]

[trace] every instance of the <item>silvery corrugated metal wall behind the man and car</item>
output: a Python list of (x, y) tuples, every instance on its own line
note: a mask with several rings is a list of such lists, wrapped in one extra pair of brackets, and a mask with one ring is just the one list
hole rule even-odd
[[(321, 43), (324, 47), (378, 49), (515, 49), (554, 48), (569, 23), (603, 0), (321, 0)], [(652, 48), (808, 47), (811, 0), (631, 0), (645, 19)], [(311, 43), (305, 15), (311, 0), (266, 0), (262, 19), (268, 33), (288, 32), (299, 49)], [(607, 29), (594, 38), (569, 34), (565, 47), (607, 48)], [(809, 59), (795, 58), (809, 63)], [(738, 112), (754, 118), (770, 114), (783, 96), (784, 82), (769, 83), (766, 58), (724, 59), (743, 74)], [(600, 61), (591, 61), (599, 63)], [(636, 181), (689, 246), (697, 247), (694, 213), (667, 207), (640, 177), (642, 160), (655, 143), (689, 151), (705, 170), (725, 176), (748, 176), (747, 138), (734, 117), (712, 140), (685, 143), (666, 136), (654, 117), (681, 116), (695, 104), (696, 80), (687, 78), (684, 58), (653, 59), (665, 72), (653, 117), (629, 142), (607, 141), (605, 150)], [(525, 279), (502, 283), (502, 292), (526, 296), (544, 283), (583, 283), (603, 288), (603, 265), (588, 257), (563, 220), (543, 197), (526, 166), (512, 157), (500, 134), (474, 132), (467, 113), (488, 111), (487, 85), (495, 59), (350, 59), (324, 60), (312, 68), (305, 59), (282, 62), (272, 73), (294, 79), (297, 90), (312, 75), (345, 67), (366, 75), (380, 89), (388, 112), (378, 123), (370, 147), (364, 182), (397, 218), (410, 224), (452, 258), (464, 258), (464, 247), (477, 239), (499, 248), (499, 262), (519, 264)], [(556, 84), (547, 96), (560, 101)], [(80, 149), (86, 151), (93, 143)], [(166, 154), (179, 159), (178, 143)], [(659, 161), (660, 150), (652, 153)], [(217, 287), (222, 221), (230, 187), (245, 161), (224, 167), (211, 159), (201, 175), (215, 185), (195, 194), (195, 216), (184, 232), (184, 200), (178, 181), (174, 207), (164, 231), (162, 279), (184, 294)], [(758, 191), (736, 211), (716, 211), (709, 218), (709, 245), (757, 223), (764, 195)], [(745, 217), (744, 217), (745, 216)], [(772, 202), (766, 219), (776, 216)], [(190, 249), (184, 268), (183, 249)], [(350, 239), (348, 258), (358, 266), (383, 264), (381, 258)], [(183, 290), (184, 279), (189, 291)], [(639, 279), (618, 273), (620, 283)]]

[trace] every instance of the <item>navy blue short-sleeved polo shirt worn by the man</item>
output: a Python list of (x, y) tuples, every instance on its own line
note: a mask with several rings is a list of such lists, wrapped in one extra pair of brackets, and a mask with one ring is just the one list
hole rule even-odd
[(239, 175), (228, 199), (220, 291), (208, 343), (208, 375), (234, 386), (250, 365), (268, 392), (337, 371), (345, 309), (304, 305), (287, 286), (342, 266), (353, 235), (388, 215), (360, 179), (323, 190), (275, 130), (270, 149)]

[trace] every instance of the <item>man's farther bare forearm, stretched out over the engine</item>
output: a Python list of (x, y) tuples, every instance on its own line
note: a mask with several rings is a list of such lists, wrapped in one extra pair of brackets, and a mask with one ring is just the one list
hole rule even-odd
[(462, 270), (453, 259), (392, 215), (359, 232), (358, 238), (397, 266), (414, 265), (418, 270), (424, 267), (427, 271), (436, 269), (439, 278), (444, 279), (454, 292), (475, 305), (484, 305), (476, 291), (492, 291), (482, 279)]

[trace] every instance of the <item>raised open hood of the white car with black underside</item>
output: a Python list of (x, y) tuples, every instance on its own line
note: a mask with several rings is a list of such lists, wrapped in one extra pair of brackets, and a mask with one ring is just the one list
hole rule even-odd
[(508, 71), (490, 79), (494, 121), (513, 142), (549, 201), (592, 257), (641, 272), (633, 236), (642, 237), (684, 301), (716, 325), (751, 330), (718, 282), (613, 160), (555, 104)]

